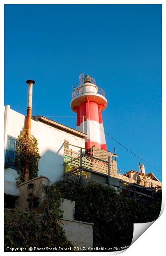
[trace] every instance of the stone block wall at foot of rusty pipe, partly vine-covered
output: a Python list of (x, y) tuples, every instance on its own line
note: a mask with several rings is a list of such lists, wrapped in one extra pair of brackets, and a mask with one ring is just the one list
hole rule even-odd
[(18, 206), (21, 211), (25, 211), (25, 209), (28, 208), (28, 201), (26, 199), (30, 193), (28, 190), (28, 184), (30, 183), (34, 183), (33, 194), (42, 199), (45, 196), (43, 187), (49, 185), (49, 179), (45, 176), (39, 176), (35, 179), (28, 180), (27, 182), (18, 185), (20, 196), (16, 200), (16, 206)]

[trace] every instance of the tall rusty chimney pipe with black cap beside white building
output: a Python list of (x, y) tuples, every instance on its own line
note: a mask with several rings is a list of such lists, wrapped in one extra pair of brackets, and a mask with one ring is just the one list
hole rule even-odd
[[(27, 104), (26, 128), (27, 128), (27, 137), (30, 139), (31, 119), (32, 119), (32, 86), (33, 86), (33, 84), (35, 84), (35, 81), (27, 80), (26, 83), (28, 83), (28, 104)], [(29, 180), (28, 160), (25, 161), (24, 180), (25, 181)]]

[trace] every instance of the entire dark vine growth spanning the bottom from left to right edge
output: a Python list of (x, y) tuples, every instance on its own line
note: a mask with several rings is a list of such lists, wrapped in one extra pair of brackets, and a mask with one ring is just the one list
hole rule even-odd
[[(33, 190), (33, 183), (28, 189)], [(93, 182), (85, 186), (58, 182), (44, 190), (46, 198), (39, 203), (42, 214), (35, 213), (36, 202), (34, 204), (31, 195), (28, 198), (32, 211), (5, 209), (5, 247), (70, 247), (65, 231), (59, 225), (61, 198), (75, 201), (76, 220), (94, 223), (93, 247), (129, 246), (133, 223), (156, 220), (161, 209), (161, 190), (154, 190), (153, 201), (146, 205)]]

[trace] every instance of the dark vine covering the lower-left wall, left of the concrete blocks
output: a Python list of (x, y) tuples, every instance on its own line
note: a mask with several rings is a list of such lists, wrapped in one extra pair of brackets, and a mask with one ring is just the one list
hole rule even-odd
[[(33, 183), (28, 187), (33, 189)], [(65, 230), (60, 225), (62, 218), (61, 193), (57, 188), (45, 187), (46, 198), (40, 203), (42, 214), (35, 211), (20, 211), (18, 208), (5, 209), (5, 251), (7, 247), (20, 248), (69, 248)], [(34, 208), (34, 198), (28, 195), (30, 207)], [(33, 205), (33, 207), (32, 207)]]

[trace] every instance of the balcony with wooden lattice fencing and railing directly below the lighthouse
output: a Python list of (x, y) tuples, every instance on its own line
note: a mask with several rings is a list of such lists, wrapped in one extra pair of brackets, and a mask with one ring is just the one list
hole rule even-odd
[(116, 161), (112, 159), (112, 156), (115, 155), (96, 147), (92, 147), (91, 152), (87, 154), (87, 151), (83, 148), (79, 148), (78, 151), (74, 151), (73, 149), (68, 149), (65, 145), (64, 180), (75, 184), (79, 182), (81, 176), (83, 176), (85, 180), (91, 180), (92, 176), (97, 175), (100, 177), (99, 179), (104, 178), (105, 182), (109, 185), (110, 176), (117, 178), (117, 165)]

